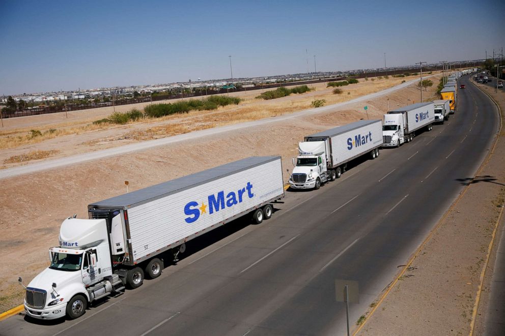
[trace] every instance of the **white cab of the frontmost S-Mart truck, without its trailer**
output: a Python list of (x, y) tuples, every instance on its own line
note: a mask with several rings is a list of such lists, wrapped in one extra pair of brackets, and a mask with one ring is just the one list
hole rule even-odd
[[(26, 287), (24, 310), (37, 319), (81, 316), (87, 303), (124, 289), (113, 274), (105, 219), (66, 219), (50, 266)], [(21, 279), (20, 279), (21, 282)]]

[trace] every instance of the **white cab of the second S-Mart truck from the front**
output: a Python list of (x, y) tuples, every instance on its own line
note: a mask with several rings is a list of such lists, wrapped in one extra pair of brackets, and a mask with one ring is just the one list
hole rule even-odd
[[(327, 180), (325, 141), (298, 143), (299, 155), (293, 159), (289, 185), (293, 189), (319, 189)], [(318, 185), (319, 184), (319, 185)]]

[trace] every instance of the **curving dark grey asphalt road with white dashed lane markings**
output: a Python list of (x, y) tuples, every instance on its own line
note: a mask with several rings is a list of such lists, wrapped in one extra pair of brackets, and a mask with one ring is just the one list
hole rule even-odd
[(78, 320), (18, 315), (0, 322), (0, 334), (345, 334), (335, 281), (358, 284), (352, 327), (458, 197), (496, 136), (494, 104), (467, 76), (459, 82), (467, 88), (444, 125), (362, 160), (319, 191), (287, 192), (261, 225), (244, 219), (202, 236), (160, 278)]

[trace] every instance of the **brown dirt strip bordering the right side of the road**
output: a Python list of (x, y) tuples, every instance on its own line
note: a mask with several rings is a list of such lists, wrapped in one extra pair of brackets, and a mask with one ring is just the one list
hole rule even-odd
[[(387, 296), (372, 304), (360, 335), (468, 335), (472, 323), (474, 335), (484, 334), (496, 245), (490, 253), (488, 248), (505, 197), (505, 95), (476, 85), (491, 94), (501, 109), (496, 146), (406, 271), (388, 288)], [(488, 253), (480, 303), (475, 307)]]

